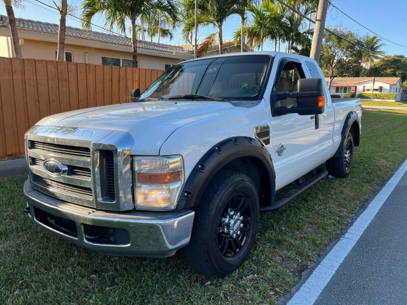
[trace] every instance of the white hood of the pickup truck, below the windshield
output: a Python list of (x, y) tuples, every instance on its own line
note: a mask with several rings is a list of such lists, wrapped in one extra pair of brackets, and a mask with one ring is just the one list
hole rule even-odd
[(157, 101), (102, 106), (51, 115), (38, 125), (124, 131), (134, 139), (131, 154), (158, 155), (161, 145), (178, 128), (236, 109), (225, 102)]

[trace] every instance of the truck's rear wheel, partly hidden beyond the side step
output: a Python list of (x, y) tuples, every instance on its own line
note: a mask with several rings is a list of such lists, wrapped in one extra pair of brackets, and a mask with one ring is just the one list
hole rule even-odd
[(326, 162), (328, 173), (337, 178), (344, 178), (350, 172), (353, 164), (353, 134), (349, 132), (343, 143), (339, 157), (333, 157)]

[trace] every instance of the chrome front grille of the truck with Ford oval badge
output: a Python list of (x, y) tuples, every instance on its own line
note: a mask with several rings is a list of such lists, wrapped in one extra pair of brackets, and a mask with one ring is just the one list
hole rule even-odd
[[(134, 208), (130, 168), (134, 142), (129, 134), (35, 126), (25, 137), (28, 176), (34, 189), (94, 208)], [(62, 170), (54, 171), (53, 166)]]

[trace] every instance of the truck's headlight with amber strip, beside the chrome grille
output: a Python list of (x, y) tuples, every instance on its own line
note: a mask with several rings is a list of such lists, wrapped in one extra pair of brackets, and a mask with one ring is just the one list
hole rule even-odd
[(134, 199), (137, 209), (171, 210), (184, 185), (181, 156), (133, 157)]

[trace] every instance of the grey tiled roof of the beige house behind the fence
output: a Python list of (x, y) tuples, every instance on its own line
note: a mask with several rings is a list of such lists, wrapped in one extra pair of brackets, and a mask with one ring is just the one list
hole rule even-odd
[[(25, 31), (46, 33), (51, 35), (58, 35), (59, 25), (56, 23), (48, 23), (42, 21), (35, 21), (30, 19), (16, 18), (17, 28)], [(9, 27), (9, 20), (7, 16), (0, 15), (0, 27)], [(90, 39), (99, 42), (113, 43), (124, 46), (131, 46), (131, 39), (119, 35), (106, 34), (101, 32), (83, 32), (81, 28), (67, 26), (66, 36), (82, 39)], [(156, 50), (161, 52), (189, 52), (187, 45), (169, 45), (163, 43), (156, 43), (150, 41), (137, 42), (137, 48)]]

